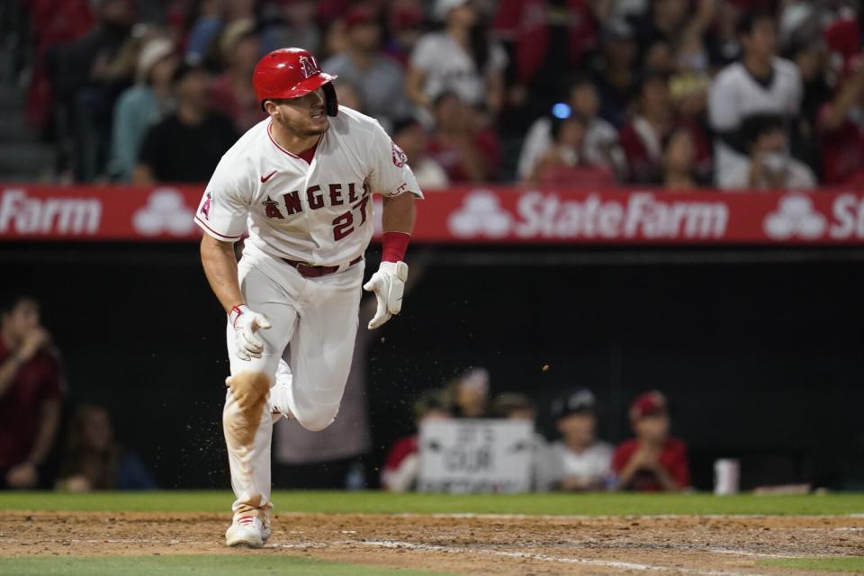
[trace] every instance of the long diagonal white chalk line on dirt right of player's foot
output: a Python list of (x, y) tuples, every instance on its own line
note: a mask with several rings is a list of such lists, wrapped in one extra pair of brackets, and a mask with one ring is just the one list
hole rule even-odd
[(697, 576), (752, 576), (753, 572), (728, 572), (718, 570), (695, 570), (691, 568), (680, 568), (675, 566), (661, 566), (657, 564), (619, 562), (615, 560), (597, 560), (592, 558), (570, 558), (567, 556), (553, 556), (551, 554), (532, 554), (524, 552), (507, 552), (504, 550), (491, 550), (489, 548), (459, 548), (453, 546), (413, 544), (410, 542), (399, 542), (394, 540), (367, 540), (357, 542), (358, 545), (377, 546), (380, 548), (403, 548), (418, 550), (420, 552), (444, 552), (448, 554), (482, 554), (488, 556), (501, 556), (504, 558), (523, 558), (540, 562), (585, 564), (602, 568), (618, 568), (621, 570), (638, 570), (652, 572), (677, 572), (694, 574)]

